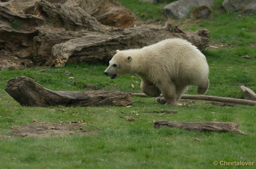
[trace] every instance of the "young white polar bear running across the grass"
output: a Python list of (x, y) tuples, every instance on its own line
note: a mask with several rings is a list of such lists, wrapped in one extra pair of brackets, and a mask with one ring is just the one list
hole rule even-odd
[(204, 54), (179, 38), (140, 49), (116, 50), (104, 71), (111, 79), (133, 73), (140, 76), (142, 91), (152, 97), (162, 93), (165, 105), (175, 106), (189, 86), (197, 86), (199, 94), (209, 88), (209, 66)]

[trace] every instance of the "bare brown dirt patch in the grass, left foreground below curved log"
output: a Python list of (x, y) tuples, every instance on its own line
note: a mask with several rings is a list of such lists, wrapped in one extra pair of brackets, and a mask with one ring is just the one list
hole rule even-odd
[(19, 128), (11, 130), (13, 135), (0, 135), (0, 138), (13, 137), (50, 137), (50, 136), (67, 136), (67, 135), (93, 135), (97, 131), (84, 130), (81, 122), (62, 122), (51, 124), (47, 122), (37, 122), (31, 125), (22, 125)]

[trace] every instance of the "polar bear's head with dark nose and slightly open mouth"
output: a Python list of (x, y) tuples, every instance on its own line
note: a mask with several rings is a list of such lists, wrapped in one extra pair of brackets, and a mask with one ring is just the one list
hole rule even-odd
[(111, 79), (116, 79), (123, 74), (131, 72), (131, 60), (132, 56), (126, 54), (125, 51), (116, 50), (116, 54), (109, 61), (108, 68), (104, 71), (104, 74), (110, 76)]

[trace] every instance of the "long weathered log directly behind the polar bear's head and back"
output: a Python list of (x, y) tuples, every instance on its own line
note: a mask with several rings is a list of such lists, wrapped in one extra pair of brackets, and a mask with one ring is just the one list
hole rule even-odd
[(52, 47), (52, 56), (47, 61), (48, 66), (64, 66), (66, 62), (103, 62), (115, 54), (116, 49), (140, 48), (151, 45), (166, 38), (179, 37), (188, 39), (200, 50), (208, 46), (209, 31), (181, 31), (156, 25), (142, 25), (125, 30), (113, 30), (109, 34), (90, 34)]

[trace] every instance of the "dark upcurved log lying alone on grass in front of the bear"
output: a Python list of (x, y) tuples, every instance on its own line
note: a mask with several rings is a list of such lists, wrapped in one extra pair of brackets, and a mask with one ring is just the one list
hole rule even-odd
[(132, 95), (120, 91), (53, 91), (42, 87), (33, 79), (19, 76), (7, 82), (5, 91), (22, 106), (127, 106), (132, 104)]

